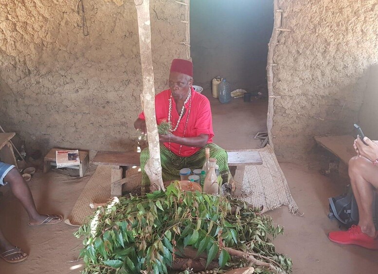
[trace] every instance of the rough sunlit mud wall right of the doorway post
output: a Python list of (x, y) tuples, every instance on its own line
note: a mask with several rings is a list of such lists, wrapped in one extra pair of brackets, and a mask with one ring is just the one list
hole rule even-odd
[(272, 135), (281, 161), (301, 161), (318, 134), (358, 121), (368, 68), (378, 62), (376, 0), (278, 0), (284, 11), (274, 51)]

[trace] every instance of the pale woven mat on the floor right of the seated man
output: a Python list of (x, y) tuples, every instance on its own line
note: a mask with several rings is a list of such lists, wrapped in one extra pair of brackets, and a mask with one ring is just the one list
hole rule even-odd
[(262, 212), (287, 206), (298, 214), (298, 206), (291, 196), (288, 182), (270, 145), (257, 149), (262, 165), (245, 167), (241, 198), (255, 206), (263, 206)]

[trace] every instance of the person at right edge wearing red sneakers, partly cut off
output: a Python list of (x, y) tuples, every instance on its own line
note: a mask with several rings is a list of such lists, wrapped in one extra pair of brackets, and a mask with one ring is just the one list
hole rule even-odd
[(358, 137), (354, 149), (358, 156), (349, 161), (349, 177), (359, 209), (359, 224), (347, 231), (328, 234), (329, 240), (340, 244), (356, 244), (369, 249), (378, 249), (378, 232), (373, 222), (373, 192), (378, 189), (378, 141)]

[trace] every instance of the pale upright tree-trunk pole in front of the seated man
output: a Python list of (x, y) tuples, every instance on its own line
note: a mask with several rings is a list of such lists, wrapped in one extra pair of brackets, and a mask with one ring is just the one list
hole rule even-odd
[[(150, 191), (165, 191), (162, 181), (162, 165), (160, 161), (160, 143), (155, 115), (154, 68), (151, 50), (151, 21), (149, 0), (134, 0), (138, 16), (139, 48), (141, 52), (143, 94), (142, 105), (147, 127), (147, 140), (150, 158), (144, 171), (150, 179)], [(148, 192), (148, 186), (142, 186), (142, 193)]]

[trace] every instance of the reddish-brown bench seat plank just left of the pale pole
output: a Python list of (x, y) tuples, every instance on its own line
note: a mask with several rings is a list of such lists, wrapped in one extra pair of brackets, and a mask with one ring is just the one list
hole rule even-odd
[(126, 151), (98, 151), (93, 159), (94, 164), (139, 166), (140, 153)]

